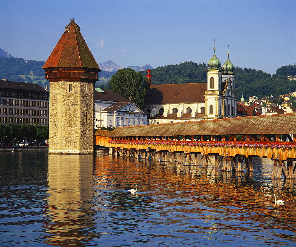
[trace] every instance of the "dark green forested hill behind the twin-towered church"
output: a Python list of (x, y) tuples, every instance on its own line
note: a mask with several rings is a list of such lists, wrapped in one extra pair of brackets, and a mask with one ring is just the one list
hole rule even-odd
[[(208, 67), (205, 63), (197, 64), (192, 61), (175, 65), (167, 65), (151, 69), (152, 84), (179, 84), (207, 82)], [(147, 75), (147, 71), (141, 72)], [(265, 95), (283, 95), (296, 91), (296, 81), (287, 79), (289, 75), (296, 75), (294, 65), (282, 66), (276, 70), (276, 74), (270, 74), (256, 69), (242, 69), (237, 67), (235, 92), (240, 96), (243, 92), (244, 98)]]

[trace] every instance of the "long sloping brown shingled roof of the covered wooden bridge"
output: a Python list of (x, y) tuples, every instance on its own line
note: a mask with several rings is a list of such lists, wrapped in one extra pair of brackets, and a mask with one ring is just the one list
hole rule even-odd
[(115, 128), (109, 137), (296, 134), (296, 113)]

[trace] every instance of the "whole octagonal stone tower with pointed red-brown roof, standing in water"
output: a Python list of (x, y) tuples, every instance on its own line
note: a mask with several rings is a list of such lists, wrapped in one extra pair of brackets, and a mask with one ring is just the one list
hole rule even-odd
[(101, 71), (75, 19), (45, 62), (50, 82), (49, 153), (94, 152), (94, 83)]

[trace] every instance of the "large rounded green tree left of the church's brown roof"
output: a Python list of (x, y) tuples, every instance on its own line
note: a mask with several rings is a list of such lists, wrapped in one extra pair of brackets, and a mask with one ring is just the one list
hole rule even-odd
[(139, 108), (145, 105), (144, 99), (149, 89), (148, 79), (131, 68), (119, 69), (110, 80), (110, 91), (135, 102)]

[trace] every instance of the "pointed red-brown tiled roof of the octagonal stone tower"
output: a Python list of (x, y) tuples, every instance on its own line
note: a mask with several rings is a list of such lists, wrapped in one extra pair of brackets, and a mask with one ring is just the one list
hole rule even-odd
[(79, 67), (101, 71), (75, 19), (71, 19), (71, 22), (65, 26), (65, 32), (43, 66), (44, 69), (52, 67)]

